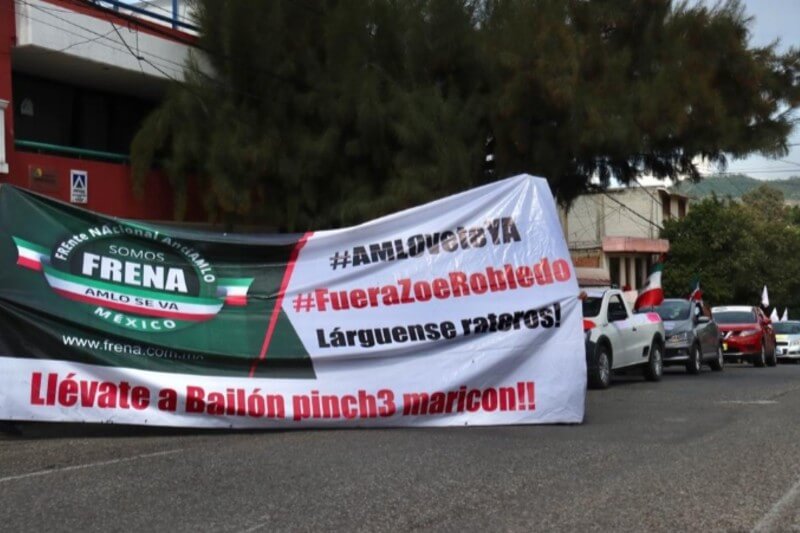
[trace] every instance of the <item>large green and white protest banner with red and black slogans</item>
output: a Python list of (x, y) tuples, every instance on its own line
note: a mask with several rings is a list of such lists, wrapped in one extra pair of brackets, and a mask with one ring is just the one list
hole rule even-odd
[(2, 186), (0, 263), (0, 419), (583, 419), (578, 287), (543, 179), (269, 237), (109, 218)]

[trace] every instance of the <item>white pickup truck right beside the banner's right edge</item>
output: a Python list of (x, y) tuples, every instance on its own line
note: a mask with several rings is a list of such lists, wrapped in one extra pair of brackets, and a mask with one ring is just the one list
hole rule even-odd
[(657, 313), (634, 314), (617, 289), (587, 289), (583, 301), (589, 387), (605, 389), (611, 372), (641, 367), (650, 381), (664, 369), (664, 323)]

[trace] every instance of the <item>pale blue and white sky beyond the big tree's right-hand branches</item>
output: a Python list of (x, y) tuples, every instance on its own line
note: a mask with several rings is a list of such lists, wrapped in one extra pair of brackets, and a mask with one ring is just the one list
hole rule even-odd
[[(744, 0), (747, 13), (755, 18), (751, 25), (751, 43), (756, 46), (780, 39), (781, 49), (800, 47), (800, 0)], [(800, 116), (800, 114), (798, 114)], [(789, 155), (782, 161), (750, 157), (731, 161), (728, 172), (741, 172), (758, 179), (782, 179), (800, 176), (800, 125), (789, 140)]]

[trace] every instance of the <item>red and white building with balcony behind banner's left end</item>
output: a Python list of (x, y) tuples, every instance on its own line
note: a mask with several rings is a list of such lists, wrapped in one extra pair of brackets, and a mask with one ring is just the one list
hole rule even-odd
[(171, 219), (161, 172), (134, 194), (129, 151), (196, 43), (183, 3), (0, 0), (0, 183)]

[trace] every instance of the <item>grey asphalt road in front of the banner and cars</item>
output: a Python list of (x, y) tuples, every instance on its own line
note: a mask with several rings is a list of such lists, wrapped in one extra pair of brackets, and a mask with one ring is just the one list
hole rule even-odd
[(0, 530), (800, 530), (800, 365), (590, 391), (582, 425), (0, 433)]

